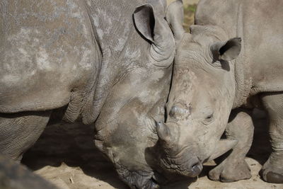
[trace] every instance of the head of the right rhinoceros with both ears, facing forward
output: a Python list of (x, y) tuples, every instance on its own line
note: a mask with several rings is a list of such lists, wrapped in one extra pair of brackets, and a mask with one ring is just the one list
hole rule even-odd
[(236, 82), (234, 62), (241, 39), (224, 40), (226, 33), (214, 26), (182, 27), (182, 1), (168, 7), (178, 44), (167, 120), (157, 131), (164, 153), (161, 165), (168, 171), (194, 177), (202, 163), (229, 151), (236, 141), (221, 139), (233, 106)]

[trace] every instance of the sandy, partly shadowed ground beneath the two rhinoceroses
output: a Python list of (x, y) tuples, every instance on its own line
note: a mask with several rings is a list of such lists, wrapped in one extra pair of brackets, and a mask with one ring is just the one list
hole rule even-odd
[[(246, 158), (253, 174), (250, 180), (235, 183), (210, 181), (206, 175), (215, 165), (211, 162), (204, 166), (199, 178), (171, 183), (164, 188), (283, 189), (283, 185), (265, 183), (258, 176), (258, 171), (270, 154), (266, 122), (263, 118), (255, 119), (253, 147)], [(92, 140), (91, 126), (77, 123), (49, 125), (35, 146), (25, 154), (23, 164), (62, 189), (127, 188), (117, 178), (112, 164), (94, 147)]]

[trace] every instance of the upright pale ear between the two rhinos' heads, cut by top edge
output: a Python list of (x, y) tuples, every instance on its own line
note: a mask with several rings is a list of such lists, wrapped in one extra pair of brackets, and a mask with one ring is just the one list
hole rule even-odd
[(175, 41), (178, 43), (185, 33), (183, 28), (184, 8), (182, 0), (174, 1), (168, 6), (166, 11), (166, 20), (171, 25)]

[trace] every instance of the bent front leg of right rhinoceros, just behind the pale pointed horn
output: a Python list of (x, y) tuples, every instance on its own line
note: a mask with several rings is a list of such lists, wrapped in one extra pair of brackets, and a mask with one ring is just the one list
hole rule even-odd
[(238, 144), (224, 161), (209, 171), (213, 181), (233, 182), (251, 177), (250, 168), (245, 161), (253, 142), (253, 120), (244, 110), (233, 110), (226, 128), (226, 137), (237, 139)]

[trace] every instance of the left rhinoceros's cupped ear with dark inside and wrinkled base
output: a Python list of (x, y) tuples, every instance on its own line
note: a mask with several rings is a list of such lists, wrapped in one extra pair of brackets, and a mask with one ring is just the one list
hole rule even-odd
[(164, 17), (154, 13), (150, 4), (145, 4), (136, 8), (133, 18), (139, 33), (151, 42), (149, 54), (153, 64), (158, 67), (171, 65), (175, 55), (175, 40)]

